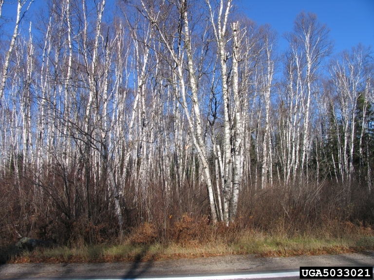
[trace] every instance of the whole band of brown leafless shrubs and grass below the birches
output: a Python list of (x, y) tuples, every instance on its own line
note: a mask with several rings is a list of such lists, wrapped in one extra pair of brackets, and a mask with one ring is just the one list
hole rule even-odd
[[(8, 186), (8, 188), (6, 188)], [(101, 193), (90, 216), (80, 209), (69, 217), (58, 201), (33, 199), (27, 184), (4, 194), (0, 213), (0, 262), (122, 262), (256, 254), (295, 256), (339, 254), (374, 249), (374, 195), (354, 184), (348, 195), (342, 184), (320, 183), (315, 188), (295, 185), (243, 189), (238, 218), (226, 226), (213, 224), (207, 191), (193, 200), (198, 186), (183, 188), (183, 196), (165, 203), (160, 186), (152, 185), (152, 201), (158, 207), (136, 211), (134, 201), (124, 209), (124, 225), (118, 227), (114, 205), (105, 205)], [(133, 194), (128, 193), (131, 197)], [(12, 197), (12, 199), (10, 199)], [(25, 198), (28, 199), (25, 199)], [(141, 199), (141, 198), (139, 198)], [(103, 211), (107, 209), (106, 211)], [(19, 250), (20, 237), (51, 242), (51, 246)]]

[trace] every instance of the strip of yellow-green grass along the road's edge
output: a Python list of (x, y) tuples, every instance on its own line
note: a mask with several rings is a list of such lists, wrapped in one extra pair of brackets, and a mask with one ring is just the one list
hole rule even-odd
[[(322, 255), (358, 252), (374, 249), (374, 232), (371, 228), (348, 225), (351, 231), (339, 236), (333, 236), (332, 231), (321, 234), (299, 234), (288, 237), (287, 234), (266, 234), (256, 230), (240, 230), (236, 236), (220, 235), (216, 226), (210, 227), (216, 234), (205, 234), (180, 240), (173, 236), (164, 242), (150, 242), (144, 235), (143, 242), (136, 234), (130, 235), (119, 244), (59, 246), (55, 248), (37, 248), (32, 252), (24, 251), (18, 255), (10, 256), (8, 263), (24, 262), (151, 262), (180, 258), (197, 258), (222, 256), (228, 254), (255, 254), (257, 256), (296, 256), (296, 255)], [(149, 227), (149, 226), (146, 226)], [(219, 231), (218, 231), (219, 232)], [(153, 236), (152, 234), (150, 234)]]

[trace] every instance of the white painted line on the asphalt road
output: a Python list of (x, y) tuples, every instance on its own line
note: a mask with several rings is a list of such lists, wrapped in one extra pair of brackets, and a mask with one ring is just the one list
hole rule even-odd
[[(260, 278), (280, 278), (280, 277), (298, 277), (299, 271), (295, 272), (278, 272), (278, 273), (259, 273), (259, 274), (242, 274), (242, 275), (215, 275), (215, 276), (186, 276), (186, 277), (163, 277), (163, 278), (134, 278), (123, 280), (239, 280), (239, 279), (260, 279)], [(104, 279), (103, 279), (104, 280)], [(105, 279), (119, 280), (119, 279)]]

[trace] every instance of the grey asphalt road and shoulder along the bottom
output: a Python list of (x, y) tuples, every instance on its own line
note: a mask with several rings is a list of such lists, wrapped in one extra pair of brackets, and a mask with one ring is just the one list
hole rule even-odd
[[(294, 280), (299, 279), (298, 276), (295, 276), (295, 272), (299, 271), (300, 266), (374, 266), (374, 251), (288, 258), (228, 255), (159, 262), (3, 264), (0, 265), (0, 279), (64, 278), (109, 280), (159, 279), (167, 277), (180, 280), (181, 277), (188, 277), (191, 280), (233, 280), (258, 279), (255, 275), (260, 273), (267, 273), (268, 277), (265, 275), (263, 278), (270, 279), (269, 273), (282, 273), (278, 276), (271, 276), (271, 279)], [(291, 274), (286, 276), (284, 273)], [(244, 277), (245, 275), (247, 276)], [(242, 276), (242, 278), (239, 276)]]

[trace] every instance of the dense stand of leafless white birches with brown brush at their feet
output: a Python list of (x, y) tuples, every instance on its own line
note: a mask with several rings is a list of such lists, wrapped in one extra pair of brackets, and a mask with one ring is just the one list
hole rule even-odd
[(1, 242), (374, 223), (370, 46), (300, 12), (279, 52), (232, 0), (34, 4), (0, 0)]

